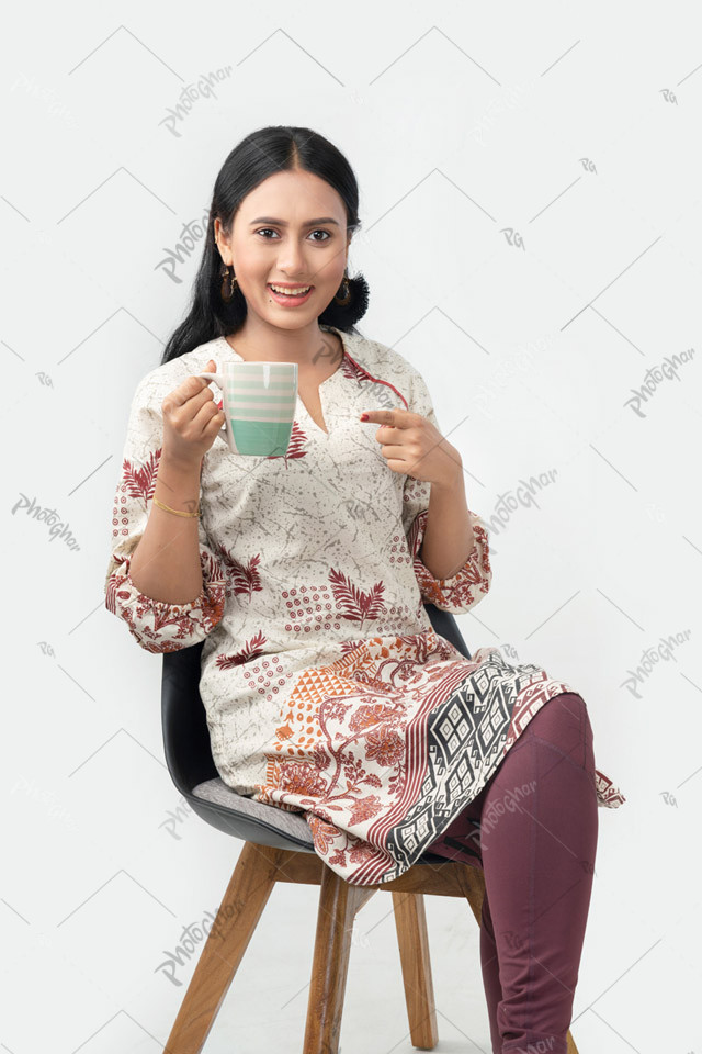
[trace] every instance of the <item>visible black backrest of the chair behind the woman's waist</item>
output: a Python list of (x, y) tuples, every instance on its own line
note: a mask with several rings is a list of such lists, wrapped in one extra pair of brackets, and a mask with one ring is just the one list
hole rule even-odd
[[(466, 659), (471, 652), (450, 612), (424, 605), (437, 633), (444, 637)], [(201, 655), (204, 641), (190, 648), (163, 653), (161, 675), (161, 725), (166, 764), (181, 794), (218, 773), (210, 745), (207, 715), (200, 696)]]

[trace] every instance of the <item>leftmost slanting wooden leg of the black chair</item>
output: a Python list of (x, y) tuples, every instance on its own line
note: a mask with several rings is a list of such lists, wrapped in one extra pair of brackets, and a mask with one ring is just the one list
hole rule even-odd
[(280, 851), (246, 842), (219, 905), (165, 1054), (200, 1054), (268, 902)]

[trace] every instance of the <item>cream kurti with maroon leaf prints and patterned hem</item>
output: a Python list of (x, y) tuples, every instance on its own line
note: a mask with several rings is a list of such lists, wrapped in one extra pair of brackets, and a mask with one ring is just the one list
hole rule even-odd
[[(388, 882), (440, 838), (553, 696), (573, 692), (499, 649), (472, 659), (438, 636), (424, 603), (468, 612), (490, 587), (487, 530), (471, 511), (465, 565), (421, 561), (430, 484), (394, 472), (363, 411), (400, 407), (439, 427), (421, 374), (396, 350), (333, 329), (344, 347), (319, 386), (328, 433), (298, 397), (284, 456), (244, 457), (222, 436), (203, 458), (203, 586), (186, 604), (139, 593), (129, 575), (162, 447), (161, 404), (224, 337), (138, 384), (116, 487), (109, 610), (141, 648), (204, 640), (200, 693), (222, 780), (299, 810), (315, 851), (355, 885)], [(218, 399), (219, 390), (215, 389)], [(624, 796), (599, 770), (598, 805)]]

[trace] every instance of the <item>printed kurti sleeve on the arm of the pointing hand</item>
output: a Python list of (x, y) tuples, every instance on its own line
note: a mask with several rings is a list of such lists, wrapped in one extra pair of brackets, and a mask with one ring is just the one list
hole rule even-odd
[[(441, 431), (433, 403), (421, 374), (412, 378), (410, 405), (412, 413), (420, 414)], [(437, 579), (418, 556), (429, 518), (431, 483), (408, 475), (403, 490), (403, 526), (407, 545), (414, 560), (415, 576), (424, 604), (433, 604), (443, 612), (460, 615), (478, 604), (490, 587), (492, 569), (484, 520), (468, 508), (475, 545), (464, 565), (448, 579)]]

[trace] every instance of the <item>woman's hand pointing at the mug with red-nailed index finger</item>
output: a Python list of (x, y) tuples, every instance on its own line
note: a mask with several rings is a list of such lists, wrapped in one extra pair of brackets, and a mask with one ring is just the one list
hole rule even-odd
[(375, 438), (393, 472), (416, 480), (453, 486), (461, 479), (463, 461), (455, 447), (420, 414), (408, 410), (372, 410), (361, 421), (380, 424)]

